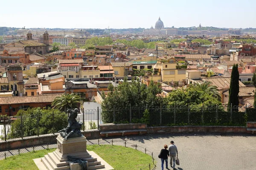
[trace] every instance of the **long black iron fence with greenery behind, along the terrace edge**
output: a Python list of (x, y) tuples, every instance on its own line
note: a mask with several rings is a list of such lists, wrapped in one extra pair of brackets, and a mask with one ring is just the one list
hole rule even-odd
[[(82, 110), (77, 116), (82, 130), (99, 129), (102, 123), (146, 123), (148, 126), (233, 125), (256, 122), (256, 108), (223, 106), (128, 107)], [(67, 126), (66, 113), (0, 116), (0, 140), (56, 133)]]

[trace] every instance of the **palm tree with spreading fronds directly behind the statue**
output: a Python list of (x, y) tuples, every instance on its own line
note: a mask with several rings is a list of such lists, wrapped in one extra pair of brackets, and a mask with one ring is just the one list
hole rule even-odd
[(81, 98), (77, 94), (63, 94), (62, 96), (54, 99), (52, 106), (53, 108), (61, 111), (66, 111), (67, 109), (77, 108), (80, 101)]

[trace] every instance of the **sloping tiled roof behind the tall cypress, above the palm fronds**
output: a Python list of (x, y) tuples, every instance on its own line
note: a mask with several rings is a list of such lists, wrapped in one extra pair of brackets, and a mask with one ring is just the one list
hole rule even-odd
[[(212, 82), (211, 85), (215, 85), (218, 88), (229, 88), (230, 87), (230, 77), (209, 77), (203, 80), (207, 82)], [(242, 82), (239, 81), (239, 87), (246, 87)]]

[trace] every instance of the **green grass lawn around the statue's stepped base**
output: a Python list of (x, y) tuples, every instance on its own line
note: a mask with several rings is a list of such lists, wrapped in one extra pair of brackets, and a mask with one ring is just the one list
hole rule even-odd
[[(22, 153), (16, 156), (0, 160), (0, 170), (37, 170), (32, 159), (44, 157), (56, 149), (38, 150), (29, 153)], [(94, 151), (115, 170), (140, 170), (151, 162), (151, 156), (138, 150), (111, 145), (87, 145), (87, 150)]]

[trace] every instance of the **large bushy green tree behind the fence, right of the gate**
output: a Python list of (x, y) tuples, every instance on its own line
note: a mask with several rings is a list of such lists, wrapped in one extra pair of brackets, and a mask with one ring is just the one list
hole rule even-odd
[(141, 84), (138, 79), (128, 82), (127, 78), (117, 87), (112, 84), (108, 86), (108, 94), (102, 93), (102, 121), (105, 123), (113, 122), (113, 109), (116, 110), (115, 114), (122, 116), (127, 112), (125, 109), (131, 107), (155, 107), (164, 104), (164, 99), (161, 95), (162, 92), (160, 83), (154, 83), (153, 80), (149, 83), (148, 87)]

